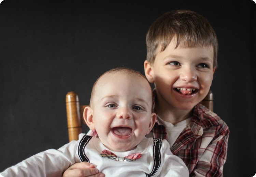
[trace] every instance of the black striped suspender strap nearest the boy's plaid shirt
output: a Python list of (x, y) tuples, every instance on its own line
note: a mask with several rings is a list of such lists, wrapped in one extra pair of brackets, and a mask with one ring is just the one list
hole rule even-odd
[(154, 146), (153, 146), (153, 158), (154, 158), (154, 166), (153, 170), (150, 174), (146, 174), (147, 177), (154, 176), (161, 165), (161, 147), (162, 147), (162, 140), (158, 138), (153, 139)]

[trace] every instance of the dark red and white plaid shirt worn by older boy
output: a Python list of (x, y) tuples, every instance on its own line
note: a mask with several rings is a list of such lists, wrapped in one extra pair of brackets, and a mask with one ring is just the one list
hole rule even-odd
[[(154, 138), (167, 139), (165, 127), (157, 121)], [(96, 131), (90, 133), (98, 136)], [(189, 125), (181, 132), (171, 151), (188, 167), (189, 176), (223, 176), (227, 159), (229, 129), (215, 113), (197, 104)]]

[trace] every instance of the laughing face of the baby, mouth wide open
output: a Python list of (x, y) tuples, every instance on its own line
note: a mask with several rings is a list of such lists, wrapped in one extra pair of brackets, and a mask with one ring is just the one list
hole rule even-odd
[(95, 87), (91, 109), (89, 127), (96, 129), (101, 142), (114, 151), (136, 147), (156, 120), (151, 87), (134, 74), (103, 75)]

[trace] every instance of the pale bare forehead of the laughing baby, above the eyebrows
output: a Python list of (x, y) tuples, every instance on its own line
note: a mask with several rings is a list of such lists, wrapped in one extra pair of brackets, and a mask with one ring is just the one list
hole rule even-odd
[(152, 89), (141, 74), (119, 71), (105, 73), (95, 83), (90, 103), (94, 104), (103, 98), (140, 100), (152, 105)]

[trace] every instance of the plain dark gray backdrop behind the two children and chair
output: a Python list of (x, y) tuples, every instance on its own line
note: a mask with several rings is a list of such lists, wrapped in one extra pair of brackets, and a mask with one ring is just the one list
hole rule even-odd
[(68, 143), (68, 91), (86, 104), (104, 71), (126, 66), (144, 73), (147, 29), (175, 9), (201, 13), (217, 33), (219, 68), (211, 89), (214, 111), (230, 128), (224, 175), (254, 176), (256, 6), (251, 0), (2, 1), (0, 171)]

